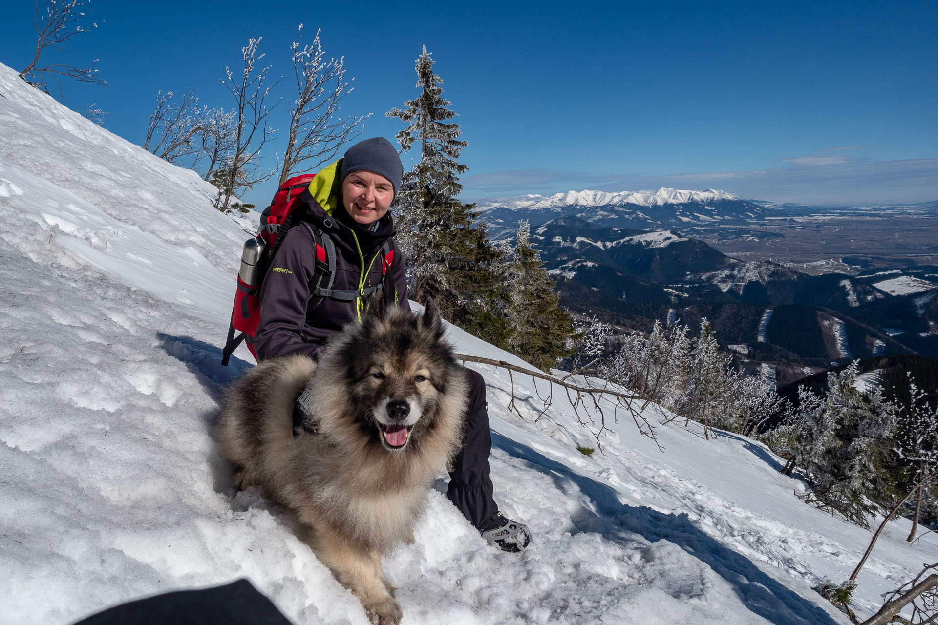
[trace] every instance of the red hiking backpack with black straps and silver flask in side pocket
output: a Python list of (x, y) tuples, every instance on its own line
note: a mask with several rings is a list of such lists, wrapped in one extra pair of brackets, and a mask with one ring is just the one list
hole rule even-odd
[[(228, 340), (221, 350), (221, 365), (227, 366), (237, 346), (244, 341), (248, 346), (254, 360), (257, 352), (254, 351), (254, 335), (261, 322), (261, 287), (270, 260), (277, 252), (277, 246), (282, 235), (302, 223), (310, 229), (313, 241), (316, 244), (316, 263), (312, 279), (310, 280), (310, 303), (308, 309), (323, 301), (323, 298), (351, 302), (359, 296), (371, 296), (382, 289), (382, 285), (357, 290), (333, 290), (332, 283), (336, 276), (336, 246), (324, 231), (312, 228), (309, 223), (296, 217), (293, 210), (296, 200), (303, 191), (310, 186), (315, 173), (305, 173), (294, 176), (280, 185), (270, 206), (261, 214), (261, 224), (257, 236), (248, 239), (241, 253), (241, 268), (237, 275), (237, 291), (234, 293), (234, 309), (231, 322), (228, 325)], [(390, 241), (382, 248), (381, 275), (385, 275), (393, 260)], [(240, 332), (235, 336), (236, 332)]]

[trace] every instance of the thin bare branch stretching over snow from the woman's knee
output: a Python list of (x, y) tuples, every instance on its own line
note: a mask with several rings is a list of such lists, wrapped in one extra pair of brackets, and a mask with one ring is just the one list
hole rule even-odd
[[(543, 373), (541, 371), (537, 371), (536, 369), (528, 369), (519, 365), (511, 365), (510, 363), (507, 363), (504, 360), (494, 360), (492, 358), (482, 358), (480, 356), (469, 356), (467, 354), (456, 354), (456, 357), (459, 360), (461, 360), (463, 363), (467, 363), (467, 362), (478, 363), (480, 365), (492, 365), (492, 366), (497, 366), (503, 369), (507, 369), (508, 381), (511, 384), (511, 401), (508, 403), (508, 409), (514, 410), (514, 412), (518, 414), (519, 417), (522, 417), (522, 413), (518, 409), (518, 407), (515, 405), (515, 381), (511, 375), (512, 372), (522, 373), (526, 376), (531, 376), (531, 378), (533, 379), (546, 379), (548, 382), (550, 382), (551, 394), (548, 395), (548, 398), (546, 400), (540, 397), (539, 393), (537, 394), (537, 397), (542, 402), (544, 402), (544, 409), (542, 409), (540, 411), (540, 414), (537, 415), (537, 419), (540, 419), (540, 417), (543, 416), (544, 412), (551, 406), (551, 403), (553, 400), (553, 384), (557, 384), (558, 386), (565, 389), (565, 391), (567, 392), (567, 399), (569, 399), (570, 401), (570, 406), (573, 407), (574, 412), (576, 412), (577, 414), (577, 418), (580, 419), (580, 423), (583, 425), (588, 425), (588, 424), (595, 425), (595, 421), (593, 417), (590, 416), (589, 409), (586, 405), (587, 397), (590, 400), (592, 400), (593, 409), (596, 410), (596, 412), (598, 413), (598, 417), (599, 417), (599, 430), (598, 432), (591, 432), (591, 433), (593, 434), (593, 437), (596, 439), (597, 445), (599, 447), (599, 451), (602, 451), (602, 442), (599, 440), (599, 436), (602, 434), (603, 430), (607, 429), (605, 412), (603, 412), (602, 407), (599, 405), (599, 399), (601, 399), (603, 396), (606, 396), (607, 398), (614, 397), (615, 398), (614, 408), (627, 409), (628, 413), (632, 417), (632, 420), (635, 422), (635, 425), (638, 426), (639, 433), (642, 434), (643, 436), (648, 437), (649, 439), (654, 440), (655, 443), (658, 444), (658, 437), (655, 436), (654, 425), (648, 423), (648, 420), (643, 416), (640, 410), (637, 410), (632, 407), (632, 404), (631, 404), (632, 400), (640, 399), (640, 397), (636, 394), (614, 391), (613, 389), (609, 388), (609, 382), (604, 381), (602, 386), (580, 386), (579, 384), (574, 384), (573, 382), (567, 381), (567, 379), (570, 378), (571, 376), (578, 375), (575, 373), (569, 374), (562, 379), (558, 379), (546, 373)], [(585, 376), (583, 378), (587, 379), (585, 378)], [(535, 384), (535, 391), (537, 392), (537, 383)], [(575, 394), (575, 396), (571, 396), (571, 392)], [(589, 417), (588, 424), (583, 421), (580, 415), (581, 407), (582, 409), (586, 411), (586, 414)], [(537, 421), (537, 419), (535, 419), (535, 421)], [(660, 444), (658, 444), (658, 449), (661, 449)]]

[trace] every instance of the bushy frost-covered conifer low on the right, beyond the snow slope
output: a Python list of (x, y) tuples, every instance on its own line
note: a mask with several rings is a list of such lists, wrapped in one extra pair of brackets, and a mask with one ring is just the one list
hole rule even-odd
[(810, 485), (801, 499), (868, 528), (870, 514), (895, 498), (889, 468), (897, 409), (878, 388), (870, 394), (857, 389), (856, 372), (854, 362), (827, 374), (823, 403), (809, 403), (803, 413), (794, 463)]

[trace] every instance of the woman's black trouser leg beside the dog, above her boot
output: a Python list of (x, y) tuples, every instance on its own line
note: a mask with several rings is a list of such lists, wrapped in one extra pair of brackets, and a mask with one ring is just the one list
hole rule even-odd
[(453, 460), (449, 472), (446, 497), (476, 528), (498, 512), (492, 499), (492, 479), (489, 477), (489, 453), (492, 452), (492, 433), (489, 431), (489, 412), (486, 410), (485, 380), (472, 369), (464, 369), (469, 381), (469, 407), (465, 415), (465, 434), (462, 448)]

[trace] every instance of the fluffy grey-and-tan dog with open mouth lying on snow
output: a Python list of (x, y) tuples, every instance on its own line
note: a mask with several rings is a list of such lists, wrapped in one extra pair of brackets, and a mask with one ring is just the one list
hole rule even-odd
[[(413, 542), (432, 480), (460, 444), (467, 382), (443, 331), (432, 303), (422, 316), (377, 305), (330, 340), (319, 365), (294, 355), (251, 370), (225, 394), (215, 428), (238, 486), (294, 513), (301, 538), (382, 625), (401, 607), (381, 556)], [(318, 433), (295, 437), (304, 388)]]

